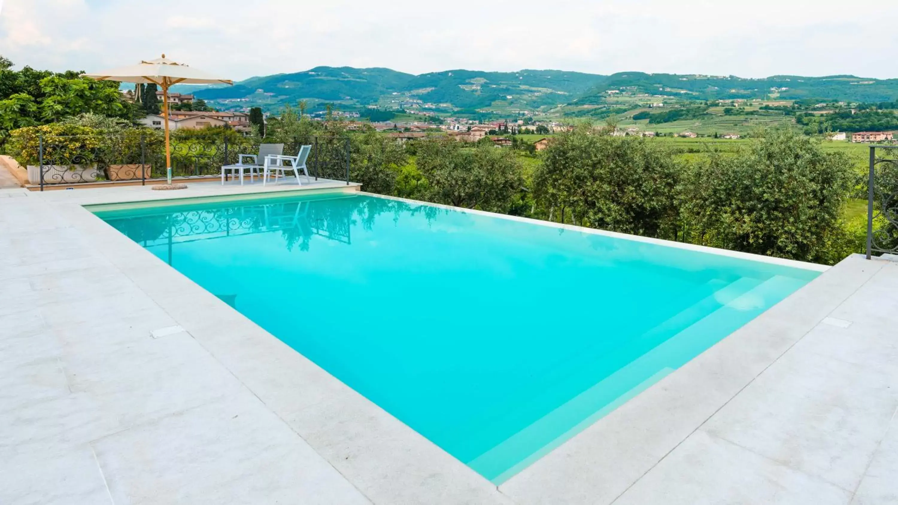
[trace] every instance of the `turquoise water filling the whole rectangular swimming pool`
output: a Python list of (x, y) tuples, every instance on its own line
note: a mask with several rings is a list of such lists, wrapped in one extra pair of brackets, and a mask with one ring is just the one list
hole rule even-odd
[(494, 483), (819, 274), (364, 195), (95, 212)]

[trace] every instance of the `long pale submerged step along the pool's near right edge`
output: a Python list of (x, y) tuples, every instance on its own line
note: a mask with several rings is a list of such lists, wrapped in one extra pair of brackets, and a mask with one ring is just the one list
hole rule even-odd
[[(747, 291), (742, 289), (749, 284), (753, 284), (751, 289)], [(504, 482), (605, 414), (612, 412), (629, 398), (638, 395), (658, 380), (664, 379), (670, 372), (716, 344), (724, 336), (744, 326), (746, 322), (760, 314), (763, 307), (770, 305), (770, 301), (767, 300), (779, 300), (783, 297), (784, 290), (793, 292), (801, 285), (803, 285), (801, 281), (777, 275), (763, 283), (736, 281), (718, 290), (708, 297), (715, 300), (718, 305), (723, 302), (717, 310), (683, 328), (593, 387), (589, 387), (496, 447), (467, 462), (468, 466), (485, 475), (493, 483)], [(683, 310), (659, 327), (680, 324), (683, 319), (689, 318), (689, 314), (697, 306), (707, 303), (708, 299)], [(656, 327), (647, 333), (656, 333), (656, 330), (663, 331)], [(520, 461), (520, 463), (506, 468), (504, 462), (507, 461)]]

